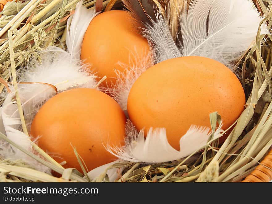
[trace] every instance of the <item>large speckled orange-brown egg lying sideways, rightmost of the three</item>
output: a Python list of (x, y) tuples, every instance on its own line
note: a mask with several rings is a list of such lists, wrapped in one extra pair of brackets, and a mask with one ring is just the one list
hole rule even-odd
[(166, 128), (176, 150), (192, 124), (210, 127), (209, 115), (217, 111), (223, 129), (244, 110), (240, 81), (225, 65), (204, 57), (181, 57), (154, 65), (132, 86), (127, 103), (136, 128)]

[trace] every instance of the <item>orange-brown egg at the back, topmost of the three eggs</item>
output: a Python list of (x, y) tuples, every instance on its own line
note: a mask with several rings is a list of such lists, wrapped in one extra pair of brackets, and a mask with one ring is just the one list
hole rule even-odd
[(107, 11), (90, 23), (81, 47), (81, 59), (90, 64), (100, 78), (107, 76), (103, 85), (116, 84), (116, 70), (147, 58), (150, 47), (137, 30), (137, 23), (127, 11)]

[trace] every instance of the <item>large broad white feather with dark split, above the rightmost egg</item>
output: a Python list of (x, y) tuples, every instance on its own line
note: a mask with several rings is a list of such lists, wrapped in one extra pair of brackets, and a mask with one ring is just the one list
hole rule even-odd
[[(181, 16), (183, 55), (204, 56), (228, 64), (249, 49), (261, 20), (249, 0), (193, 1), (188, 15), (184, 12)], [(267, 28), (261, 31), (265, 33)]]

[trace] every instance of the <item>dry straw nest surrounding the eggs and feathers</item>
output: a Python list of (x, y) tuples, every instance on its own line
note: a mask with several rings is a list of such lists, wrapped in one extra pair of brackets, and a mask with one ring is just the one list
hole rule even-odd
[[(26, 0), (8, 2), (0, 13), (0, 71), (3, 83), (16, 84), (16, 72), (32, 57), (39, 58), (39, 51), (48, 46), (65, 49), (66, 21), (79, 0)], [(268, 28), (272, 27), (272, 5), (267, 0), (253, 0), (265, 16)], [(96, 0), (86, 0), (83, 5), (94, 7)], [(119, 0), (103, 1), (104, 10), (120, 9)], [(246, 108), (235, 128), (222, 146), (213, 143), (202, 152), (168, 163), (117, 163), (110, 168), (124, 168), (117, 182), (240, 182), (256, 169), (272, 145), (272, 37), (258, 33), (256, 44), (237, 63), (237, 73), (246, 95)], [(12, 81), (9, 79), (12, 76)], [(0, 85), (4, 91), (4, 85)], [(0, 101), (0, 105), (3, 102)], [(5, 135), (3, 141), (10, 142)], [(1, 148), (1, 147), (0, 147)], [(21, 149), (22, 151), (25, 151)], [(60, 167), (56, 162), (26, 152), (32, 158), (62, 174), (61, 178), (32, 169), (23, 160), (10, 160), (0, 155), (0, 181), (4, 182), (87, 182), (77, 171)], [(76, 151), (75, 151), (76, 153)], [(42, 155), (50, 158), (45, 153)], [(50, 161), (50, 159), (49, 159)], [(263, 164), (261, 164), (263, 165)], [(271, 169), (265, 166), (268, 170)], [(118, 172), (118, 171), (117, 171)], [(271, 179), (271, 178), (270, 178)], [(107, 182), (106, 172), (95, 182)]]

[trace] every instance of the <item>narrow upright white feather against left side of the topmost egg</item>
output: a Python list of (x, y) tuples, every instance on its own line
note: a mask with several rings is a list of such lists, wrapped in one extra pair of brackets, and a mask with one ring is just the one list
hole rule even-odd
[(82, 3), (83, 1), (77, 3), (74, 15), (67, 20), (67, 28), (70, 27), (70, 29), (67, 29), (66, 45), (71, 58), (74, 59), (80, 59), (84, 34), (91, 20), (98, 14), (94, 8), (88, 10), (82, 6)]

